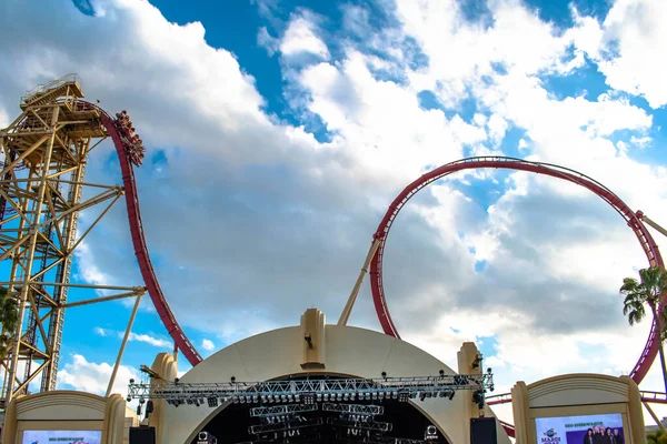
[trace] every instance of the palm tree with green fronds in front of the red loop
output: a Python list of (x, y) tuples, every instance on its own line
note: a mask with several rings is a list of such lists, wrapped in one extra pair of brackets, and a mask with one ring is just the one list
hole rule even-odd
[(660, 312), (660, 297), (667, 291), (667, 271), (659, 266), (650, 266), (639, 270), (639, 281), (634, 278), (623, 280), (620, 294), (625, 295), (623, 302), (623, 314), (628, 316), (630, 325), (641, 322), (646, 317), (646, 305), (650, 309), (653, 321), (658, 325), (658, 350), (660, 351), (660, 363), (663, 364), (663, 379), (667, 392), (667, 367), (665, 366), (665, 341), (667, 313)]

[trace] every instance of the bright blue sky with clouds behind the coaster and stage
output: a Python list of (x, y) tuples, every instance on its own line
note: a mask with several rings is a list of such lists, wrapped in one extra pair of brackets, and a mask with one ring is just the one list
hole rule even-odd
[[(388, 203), (461, 157), (564, 164), (667, 221), (667, 36), (653, 20), (664, 10), (658, 0), (50, 0), (40, 11), (10, 1), (0, 123), (23, 90), (71, 71), (89, 98), (130, 112), (149, 149), (137, 180), (151, 256), (207, 355), (295, 324), (309, 306), (335, 322)], [(20, 27), (36, 20), (66, 24), (49, 40)], [(12, 43), (51, 56), (34, 62)], [(118, 183), (104, 147), (88, 174)], [(129, 241), (118, 205), (77, 279), (140, 283)], [(507, 389), (629, 371), (648, 326), (626, 325), (617, 287), (644, 261), (594, 196), (482, 171), (410, 202), (385, 271), (406, 340), (451, 365), (460, 342), (478, 341)], [(129, 312), (68, 313), (62, 386), (99, 391)], [(366, 286), (351, 323), (378, 329)], [(126, 377), (170, 350), (148, 301), (133, 331)], [(531, 356), (550, 347), (551, 364), (536, 367)], [(80, 385), (77, 372), (94, 382)], [(654, 373), (648, 387), (659, 387)]]

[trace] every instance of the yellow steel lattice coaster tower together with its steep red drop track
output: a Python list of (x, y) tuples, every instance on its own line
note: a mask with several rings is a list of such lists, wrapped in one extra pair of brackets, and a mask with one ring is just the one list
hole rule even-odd
[[(126, 112), (113, 119), (82, 98), (76, 74), (37, 87), (21, 98), (21, 114), (0, 131), (4, 158), (0, 172), (0, 285), (19, 306), (17, 331), (0, 362), (4, 374), (0, 408), (17, 394), (26, 394), (40, 375), (39, 391), (54, 390), (68, 307), (140, 296), (148, 289), (177, 345), (193, 364), (201, 360), (171, 314), (150, 264), (132, 168), (143, 158), (141, 139)], [(123, 186), (84, 181), (89, 155), (107, 137), (115, 142)], [(77, 248), (123, 195), (147, 286), (71, 283)], [(93, 218), (79, 232), (81, 211)], [(120, 293), (69, 302), (72, 287)]]

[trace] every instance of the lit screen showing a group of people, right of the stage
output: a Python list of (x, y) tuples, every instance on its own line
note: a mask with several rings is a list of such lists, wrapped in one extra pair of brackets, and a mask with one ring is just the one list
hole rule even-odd
[(538, 417), (537, 444), (625, 444), (620, 414)]

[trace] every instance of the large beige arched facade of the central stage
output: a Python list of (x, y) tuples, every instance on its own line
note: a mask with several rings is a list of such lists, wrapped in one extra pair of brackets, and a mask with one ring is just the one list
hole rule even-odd
[[(267, 381), (289, 374), (305, 372), (322, 372), (328, 374), (350, 375), (358, 377), (380, 377), (382, 372), (388, 376), (437, 375), (440, 370), (447, 374), (455, 372), (444, 363), (422, 350), (407, 342), (387, 336), (375, 331), (352, 327), (326, 325), (321, 317), (321, 329), (312, 325), (312, 319), (302, 320), (300, 326), (279, 329), (262, 333), (211, 355), (202, 363), (186, 373), (180, 381), (220, 382), (235, 376), (237, 381)], [(316, 347), (322, 353), (309, 353), (303, 347), (305, 325), (317, 331)], [(323, 353), (326, 351), (326, 353)], [(325, 369), (317, 369), (323, 364)], [(159, 355), (153, 370), (171, 371), (172, 361), (165, 361)], [(160, 373), (161, 374), (161, 373)], [(414, 405), (429, 417), (452, 444), (468, 444), (469, 394), (459, 392), (452, 401), (426, 400)], [(199, 430), (217, 415), (223, 407), (211, 410), (206, 406), (179, 407), (160, 405), (160, 413), (151, 416), (151, 425), (159, 430), (159, 444), (183, 444), (190, 442)], [(157, 408), (156, 408), (157, 411)], [(158, 413), (158, 412), (156, 412)], [(487, 415), (490, 415), (487, 410)], [(499, 443), (509, 443), (505, 431), (500, 428)]]

